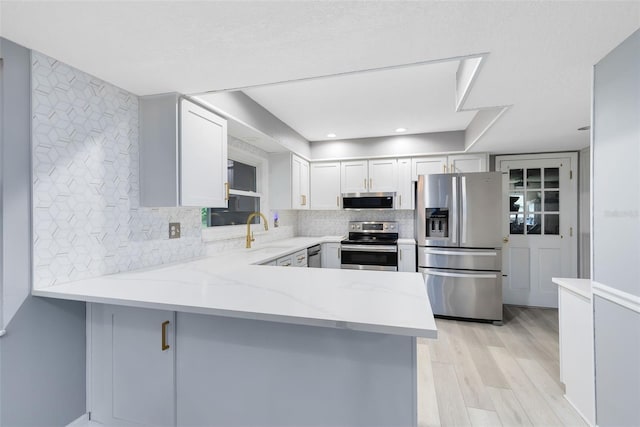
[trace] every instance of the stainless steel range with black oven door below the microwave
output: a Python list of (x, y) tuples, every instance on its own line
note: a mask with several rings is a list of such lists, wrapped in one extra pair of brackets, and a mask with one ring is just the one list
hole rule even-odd
[(398, 271), (398, 223), (351, 221), (341, 250), (342, 268)]

